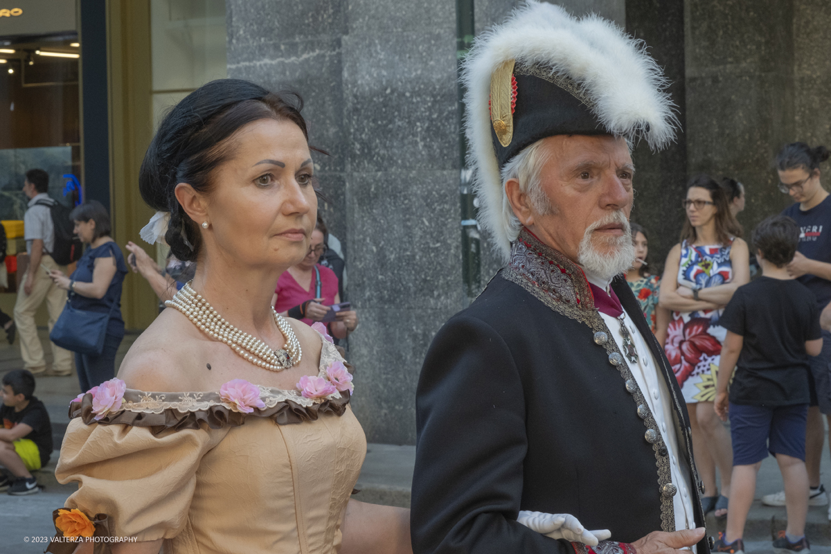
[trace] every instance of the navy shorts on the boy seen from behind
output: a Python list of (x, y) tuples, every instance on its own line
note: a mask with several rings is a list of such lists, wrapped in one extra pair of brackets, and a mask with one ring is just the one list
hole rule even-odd
[(770, 452), (805, 461), (808, 404), (749, 406), (730, 402), (733, 465), (752, 465)]

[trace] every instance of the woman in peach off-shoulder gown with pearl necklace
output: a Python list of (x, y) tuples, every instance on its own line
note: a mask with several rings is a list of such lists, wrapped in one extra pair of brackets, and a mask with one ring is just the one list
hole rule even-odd
[(56, 472), (80, 483), (66, 507), (106, 514), (111, 536), (137, 541), (130, 552), (410, 548), (408, 511), (350, 499), (366, 439), (345, 361), (270, 302), (317, 218), (301, 107), (212, 81), (170, 111), (141, 165), (160, 211), (142, 236), (164, 235), (196, 273), (118, 379), (71, 404)]

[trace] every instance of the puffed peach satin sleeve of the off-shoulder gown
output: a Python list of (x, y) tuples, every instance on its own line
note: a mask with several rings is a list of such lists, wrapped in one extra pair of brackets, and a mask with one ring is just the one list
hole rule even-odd
[(148, 427), (72, 419), (55, 470), (59, 483), (78, 483), (65, 507), (106, 514), (113, 537), (175, 537), (188, 519), (199, 463), (225, 432), (203, 425), (154, 435)]

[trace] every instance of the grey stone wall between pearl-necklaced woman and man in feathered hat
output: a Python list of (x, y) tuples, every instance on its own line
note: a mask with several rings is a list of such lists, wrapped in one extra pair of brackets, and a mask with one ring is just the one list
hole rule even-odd
[(323, 208), (347, 246), (353, 409), (414, 444), (427, 347), (462, 306), (455, 4), (229, 0), (228, 72), (307, 101)]

